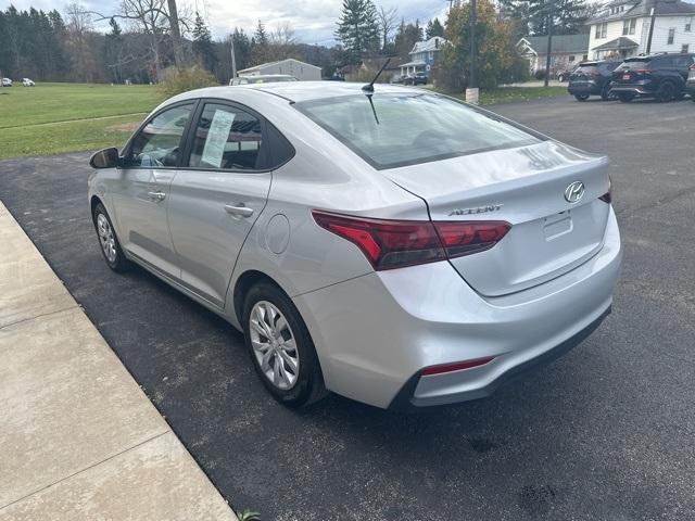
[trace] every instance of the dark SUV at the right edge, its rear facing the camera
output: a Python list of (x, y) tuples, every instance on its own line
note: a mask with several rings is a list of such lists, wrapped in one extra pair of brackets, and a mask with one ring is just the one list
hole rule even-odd
[(635, 97), (667, 102), (685, 96), (685, 81), (695, 54), (652, 54), (629, 58), (612, 72), (611, 92), (622, 102)]

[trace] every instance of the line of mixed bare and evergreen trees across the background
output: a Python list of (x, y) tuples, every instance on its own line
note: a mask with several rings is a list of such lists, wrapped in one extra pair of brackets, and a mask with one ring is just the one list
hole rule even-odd
[[(515, 67), (520, 68), (514, 50), (519, 37), (544, 34), (549, 23), (555, 34), (574, 34), (584, 29), (591, 14), (586, 0), (500, 0), (496, 5), (479, 1), (483, 84), (514, 76)], [(421, 24), (406, 22), (395, 8), (372, 0), (343, 0), (337, 43), (330, 48), (299, 41), (289, 24), (268, 28), (263, 21), (249, 31), (235, 27), (227, 38), (215, 40), (200, 13), (177, 12), (174, 0), (122, 0), (112, 13), (85, 11), (76, 3), (63, 13), (10, 5), (0, 11), (0, 74), (53, 81), (156, 82), (167, 67), (198, 64), (226, 82), (233, 43), (237, 69), (296, 58), (331, 76), (366, 58), (407, 56), (417, 41), (441, 36), (452, 43), (443, 53), (448, 74), (460, 76), (467, 60), (467, 5), (455, 0), (445, 20)], [(100, 22), (108, 22), (105, 33), (96, 30)]]

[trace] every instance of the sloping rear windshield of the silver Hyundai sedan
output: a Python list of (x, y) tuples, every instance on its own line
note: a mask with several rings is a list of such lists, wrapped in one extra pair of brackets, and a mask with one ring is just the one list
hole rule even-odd
[(428, 93), (376, 93), (314, 100), (294, 106), (375, 168), (541, 142), (465, 103)]

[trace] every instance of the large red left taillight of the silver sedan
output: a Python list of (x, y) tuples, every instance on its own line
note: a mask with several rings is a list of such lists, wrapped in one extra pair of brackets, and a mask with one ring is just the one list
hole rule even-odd
[(375, 269), (393, 269), (490, 250), (511, 228), (504, 221), (386, 220), (313, 211), (321, 228), (356, 244)]

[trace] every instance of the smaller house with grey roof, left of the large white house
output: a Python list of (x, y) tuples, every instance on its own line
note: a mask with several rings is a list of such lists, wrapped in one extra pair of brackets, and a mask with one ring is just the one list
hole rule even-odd
[[(589, 35), (559, 35), (551, 43), (551, 74), (567, 71), (586, 60)], [(531, 74), (545, 71), (547, 36), (526, 36), (517, 41), (517, 52), (529, 61)]]

